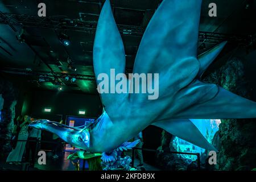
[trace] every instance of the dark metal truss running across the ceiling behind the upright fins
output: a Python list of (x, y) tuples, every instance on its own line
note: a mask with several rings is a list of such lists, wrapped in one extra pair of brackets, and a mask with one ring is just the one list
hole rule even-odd
[[(20, 15), (0, 12), (0, 23), (10, 26), (50, 28), (53, 30), (81, 31), (88, 34), (95, 34), (97, 22), (82, 22), (77, 19), (57, 19), (51, 17), (39, 17), (31, 15)], [(122, 35), (142, 37), (146, 27), (127, 26), (118, 24), (118, 29)], [(246, 35), (220, 34), (216, 32), (199, 32), (199, 42), (217, 44), (224, 40), (229, 42), (247, 43)]]

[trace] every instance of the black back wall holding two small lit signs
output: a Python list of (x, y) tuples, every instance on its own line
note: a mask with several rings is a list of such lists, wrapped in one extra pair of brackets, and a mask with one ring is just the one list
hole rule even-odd
[[(51, 113), (45, 113), (43, 111), (45, 107), (50, 107)], [(100, 97), (47, 90), (35, 90), (32, 93), (24, 93), (23, 96), (22, 114), (35, 118), (51, 119), (52, 115), (63, 115), (65, 119), (67, 115), (81, 116), (79, 115), (81, 109), (86, 111), (82, 117), (97, 118), (102, 112)]]

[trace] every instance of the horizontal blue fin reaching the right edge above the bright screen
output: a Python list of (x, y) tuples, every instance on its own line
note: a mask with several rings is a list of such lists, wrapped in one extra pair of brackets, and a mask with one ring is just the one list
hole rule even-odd
[(212, 100), (192, 105), (170, 117), (180, 119), (256, 118), (256, 102), (237, 96), (221, 87), (218, 88), (219, 92)]

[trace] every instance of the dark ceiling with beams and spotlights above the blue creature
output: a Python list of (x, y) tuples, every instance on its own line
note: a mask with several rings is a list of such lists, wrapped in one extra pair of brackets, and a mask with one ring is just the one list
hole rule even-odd
[[(46, 18), (38, 16), (41, 2), (47, 6)], [(127, 72), (133, 69), (143, 32), (160, 2), (111, 1), (125, 45)], [(217, 4), (217, 17), (214, 18), (208, 16), (208, 5), (212, 2)], [(32, 88), (57, 90), (63, 85), (67, 91), (95, 94), (92, 51), (103, 3), (104, 0), (0, 1), (2, 75)], [(229, 40), (226, 53), (237, 44), (249, 45), (251, 35), (256, 33), (255, 13), (253, 0), (203, 0), (199, 53), (223, 40)], [(69, 46), (61, 44), (60, 34), (69, 37)], [(76, 71), (68, 69), (68, 65)], [(73, 77), (75, 82), (70, 81)]]

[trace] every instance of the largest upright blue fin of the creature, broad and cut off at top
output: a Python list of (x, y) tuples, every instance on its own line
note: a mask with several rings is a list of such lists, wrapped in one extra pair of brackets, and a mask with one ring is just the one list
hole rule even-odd
[[(170, 11), (171, 10), (171, 11)], [(159, 73), (159, 91), (175, 94), (196, 77), (201, 0), (164, 0), (144, 32), (133, 73)], [(189, 17), (189, 18), (188, 18)], [(148, 94), (130, 94), (132, 101)], [(163, 94), (160, 97), (165, 97)]]

